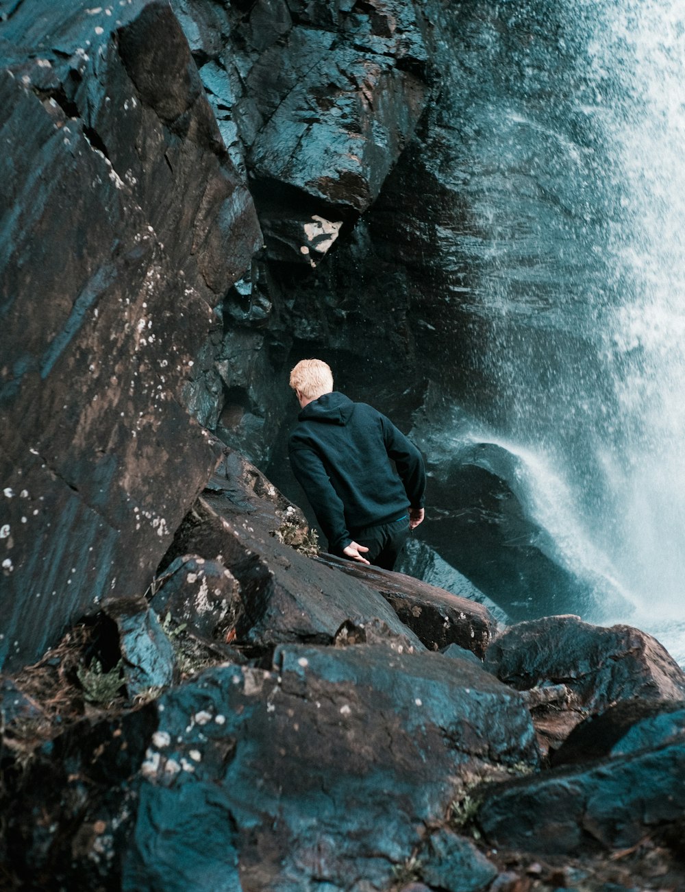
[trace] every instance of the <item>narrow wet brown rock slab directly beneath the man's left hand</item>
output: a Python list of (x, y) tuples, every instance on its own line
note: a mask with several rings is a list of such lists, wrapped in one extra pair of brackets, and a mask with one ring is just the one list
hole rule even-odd
[(329, 554), (322, 554), (318, 559), (379, 591), (427, 648), (442, 650), (450, 644), (458, 644), (478, 657), (485, 655), (496, 630), (493, 616), (486, 607), (419, 579), (377, 566)]

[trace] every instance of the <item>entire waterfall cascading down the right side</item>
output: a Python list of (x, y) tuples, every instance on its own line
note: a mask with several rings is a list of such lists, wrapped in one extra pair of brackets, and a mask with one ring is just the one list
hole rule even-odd
[(685, 4), (475, 6), (454, 164), (496, 396), (474, 435), (518, 454), (559, 552), (682, 659)]

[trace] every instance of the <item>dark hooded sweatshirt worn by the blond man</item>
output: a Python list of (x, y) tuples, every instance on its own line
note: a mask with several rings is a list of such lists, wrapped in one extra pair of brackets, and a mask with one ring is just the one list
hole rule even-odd
[(420, 451), (366, 403), (324, 393), (299, 413), (288, 445), (290, 465), (334, 554), (342, 554), (355, 530), (423, 507)]

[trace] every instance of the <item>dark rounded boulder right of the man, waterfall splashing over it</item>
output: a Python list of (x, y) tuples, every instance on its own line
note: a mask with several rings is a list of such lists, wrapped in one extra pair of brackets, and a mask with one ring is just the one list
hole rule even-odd
[[(446, 436), (452, 412), (457, 420)], [(414, 419), (412, 436), (429, 457), (427, 499), (439, 521), (426, 527), (428, 545), (514, 621), (630, 613), (590, 567), (567, 560), (538, 519), (526, 457), (493, 442), (474, 443), (470, 425), (431, 392)]]

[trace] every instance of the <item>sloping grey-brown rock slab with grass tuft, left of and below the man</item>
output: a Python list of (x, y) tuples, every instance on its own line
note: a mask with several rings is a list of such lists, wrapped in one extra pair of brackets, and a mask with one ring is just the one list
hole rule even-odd
[(256, 467), (225, 450), (165, 560), (192, 554), (230, 570), (238, 594), (227, 631), (236, 645), (264, 650), (285, 641), (325, 644), (349, 627), (380, 623), (407, 646), (423, 649), (377, 591), (283, 541), (304, 533), (298, 509)]

